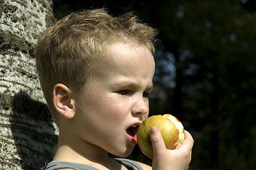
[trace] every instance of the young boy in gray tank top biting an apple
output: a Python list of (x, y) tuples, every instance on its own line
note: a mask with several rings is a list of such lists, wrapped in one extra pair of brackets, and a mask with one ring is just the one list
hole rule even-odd
[(152, 128), (152, 167), (108, 157), (127, 157), (148, 118), (155, 35), (131, 13), (114, 18), (104, 9), (72, 13), (45, 30), (35, 48), (36, 66), (60, 129), (46, 169), (188, 169), (189, 132), (180, 147), (168, 150)]

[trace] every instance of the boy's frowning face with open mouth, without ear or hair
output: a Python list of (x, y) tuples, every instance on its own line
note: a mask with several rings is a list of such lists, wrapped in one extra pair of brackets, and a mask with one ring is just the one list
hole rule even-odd
[(81, 145), (126, 157), (137, 143), (138, 125), (148, 118), (155, 61), (135, 43), (113, 44), (101, 57), (75, 98), (73, 127)]

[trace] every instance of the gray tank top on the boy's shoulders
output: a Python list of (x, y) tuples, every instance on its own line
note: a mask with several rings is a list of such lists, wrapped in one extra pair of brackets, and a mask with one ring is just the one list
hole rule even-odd
[[(124, 159), (124, 158), (115, 158), (117, 162), (120, 164), (123, 164), (123, 166), (126, 166), (133, 170), (143, 170), (143, 168), (133, 160), (130, 159)], [(77, 164), (73, 162), (60, 162), (60, 161), (52, 161), (50, 162), (45, 170), (57, 170), (57, 169), (75, 169), (75, 170), (99, 170), (94, 168), (93, 166), (89, 166), (86, 164)]]

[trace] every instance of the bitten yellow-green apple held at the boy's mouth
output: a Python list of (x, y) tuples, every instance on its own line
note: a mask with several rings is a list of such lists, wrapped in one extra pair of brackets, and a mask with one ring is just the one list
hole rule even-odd
[(185, 139), (184, 127), (182, 123), (173, 115), (152, 115), (138, 128), (137, 140), (141, 151), (150, 159), (153, 158), (152, 143), (150, 140), (150, 128), (157, 127), (165, 141), (167, 149), (176, 149)]

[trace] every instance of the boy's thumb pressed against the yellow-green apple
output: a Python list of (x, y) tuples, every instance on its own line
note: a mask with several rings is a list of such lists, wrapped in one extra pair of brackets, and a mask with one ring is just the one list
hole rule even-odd
[(162, 139), (161, 132), (157, 127), (150, 128), (150, 140), (152, 142), (154, 158), (161, 157), (161, 155), (163, 156), (166, 151), (165, 142)]

